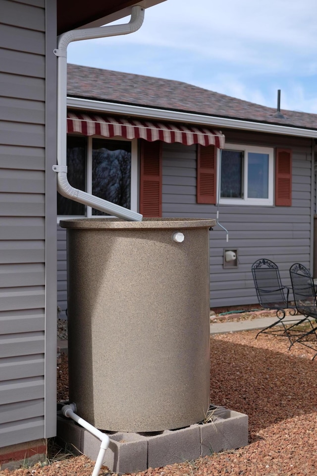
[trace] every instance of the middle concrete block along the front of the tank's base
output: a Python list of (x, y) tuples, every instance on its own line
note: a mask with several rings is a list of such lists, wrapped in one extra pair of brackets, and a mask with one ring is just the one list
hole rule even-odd
[(181, 463), (200, 457), (200, 427), (191, 425), (179, 430), (166, 430), (148, 437), (148, 467)]

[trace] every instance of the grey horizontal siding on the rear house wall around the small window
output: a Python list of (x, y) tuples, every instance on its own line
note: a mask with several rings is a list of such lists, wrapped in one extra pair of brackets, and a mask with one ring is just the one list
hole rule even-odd
[[(294, 262), (312, 267), (312, 150), (309, 139), (224, 131), (226, 143), (285, 147), (293, 151), (292, 207), (219, 206), (219, 223), (210, 235), (211, 307), (257, 303), (251, 265), (275, 261), (286, 285)], [(217, 207), (196, 203), (196, 147), (163, 145), (164, 217), (216, 218)], [(238, 250), (238, 267), (223, 268), (223, 249)]]

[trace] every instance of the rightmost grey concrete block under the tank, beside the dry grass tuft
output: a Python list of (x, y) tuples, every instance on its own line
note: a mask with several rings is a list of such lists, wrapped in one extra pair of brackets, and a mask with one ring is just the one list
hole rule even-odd
[(200, 426), (202, 456), (248, 444), (248, 416), (225, 409), (211, 423)]

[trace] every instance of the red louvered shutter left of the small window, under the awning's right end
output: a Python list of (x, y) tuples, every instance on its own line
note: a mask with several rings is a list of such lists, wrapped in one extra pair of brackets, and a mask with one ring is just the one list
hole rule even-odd
[(216, 163), (214, 145), (198, 145), (197, 149), (197, 203), (216, 203)]

